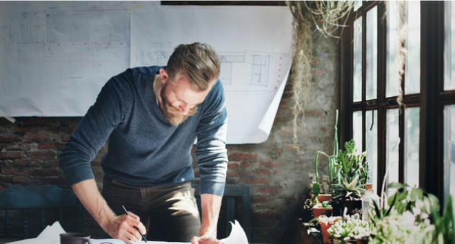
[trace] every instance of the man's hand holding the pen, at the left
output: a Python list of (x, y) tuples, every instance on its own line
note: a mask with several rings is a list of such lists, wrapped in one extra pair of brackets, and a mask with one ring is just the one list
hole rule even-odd
[[(141, 233), (145, 235), (146, 232), (145, 226), (139, 221), (139, 217), (136, 214), (129, 213), (131, 217), (127, 214), (110, 217), (106, 223), (103, 223), (104, 226), (101, 226), (101, 228), (112, 238), (120, 239), (125, 243), (141, 241)], [(141, 233), (133, 226), (139, 228)]]

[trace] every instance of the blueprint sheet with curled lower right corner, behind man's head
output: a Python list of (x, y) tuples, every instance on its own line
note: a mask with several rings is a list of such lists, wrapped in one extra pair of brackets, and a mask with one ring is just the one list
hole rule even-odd
[(166, 65), (180, 43), (212, 45), (221, 60), (228, 144), (267, 140), (291, 65), (288, 8), (156, 6), (131, 18), (132, 67)]

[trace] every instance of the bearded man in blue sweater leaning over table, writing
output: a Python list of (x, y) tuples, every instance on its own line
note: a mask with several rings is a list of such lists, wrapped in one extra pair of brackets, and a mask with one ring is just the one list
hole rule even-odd
[[(216, 223), (228, 157), (220, 66), (210, 45), (179, 45), (167, 67), (128, 69), (111, 78), (71, 135), (61, 169), (113, 238), (140, 241), (136, 226), (150, 232), (149, 241), (221, 243)], [(90, 162), (108, 137), (101, 196)], [(202, 223), (190, 184), (196, 138)]]

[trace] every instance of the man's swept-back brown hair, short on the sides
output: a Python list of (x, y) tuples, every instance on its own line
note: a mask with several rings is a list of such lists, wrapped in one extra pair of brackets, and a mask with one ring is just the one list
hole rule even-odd
[(185, 74), (190, 78), (194, 91), (205, 91), (209, 82), (220, 76), (221, 61), (208, 44), (192, 43), (178, 45), (168, 61), (170, 80)]

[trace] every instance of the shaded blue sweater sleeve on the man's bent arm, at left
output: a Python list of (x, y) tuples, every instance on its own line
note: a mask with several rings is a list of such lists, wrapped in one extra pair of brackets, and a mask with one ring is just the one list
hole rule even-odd
[(70, 186), (94, 179), (90, 162), (132, 107), (132, 70), (112, 77), (60, 153), (59, 165)]

